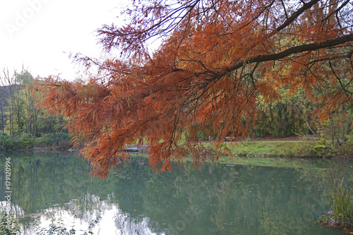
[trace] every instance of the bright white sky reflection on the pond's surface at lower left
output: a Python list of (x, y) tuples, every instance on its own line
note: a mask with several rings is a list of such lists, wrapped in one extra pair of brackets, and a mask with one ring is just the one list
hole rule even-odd
[[(84, 202), (84, 203), (83, 203)], [(86, 204), (87, 203), (87, 204)], [(85, 205), (86, 204), (86, 205)], [(95, 210), (85, 210), (84, 207), (95, 205)], [(128, 213), (123, 212), (119, 205), (109, 199), (100, 200), (96, 195), (85, 195), (84, 199), (71, 200), (63, 206), (56, 206), (34, 215), (41, 227), (49, 227), (53, 219), (60, 218), (66, 228), (76, 229), (76, 234), (84, 234), (92, 231), (93, 234), (155, 234), (149, 225), (149, 219), (143, 217), (142, 221), (132, 219)], [(39, 229), (29, 226), (23, 234), (36, 234)]]

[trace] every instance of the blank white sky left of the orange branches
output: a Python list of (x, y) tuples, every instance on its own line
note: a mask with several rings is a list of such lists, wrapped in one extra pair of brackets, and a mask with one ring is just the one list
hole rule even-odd
[[(61, 73), (73, 80), (83, 68), (68, 54), (100, 57), (97, 28), (118, 23), (128, 0), (0, 0), (0, 71), (27, 68), (32, 76)], [(1, 77), (1, 76), (0, 76)]]

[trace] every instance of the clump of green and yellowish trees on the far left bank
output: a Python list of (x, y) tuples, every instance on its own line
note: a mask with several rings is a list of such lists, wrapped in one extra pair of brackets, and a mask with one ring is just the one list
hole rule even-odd
[(10, 73), (5, 68), (0, 81), (1, 149), (32, 147), (34, 143), (59, 145), (59, 141), (68, 141), (64, 117), (50, 116), (35, 107), (36, 92), (30, 89), (35, 78), (29, 71)]

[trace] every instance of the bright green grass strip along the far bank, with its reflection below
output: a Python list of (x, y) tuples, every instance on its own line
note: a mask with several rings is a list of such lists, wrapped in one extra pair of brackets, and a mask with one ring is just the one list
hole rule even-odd
[[(215, 150), (214, 142), (203, 142), (202, 144), (210, 150)], [(221, 164), (305, 168), (308, 166), (306, 160), (309, 160), (309, 158), (338, 156), (335, 148), (324, 140), (297, 142), (246, 140), (242, 143), (224, 142), (221, 145), (227, 147), (232, 155), (232, 157), (229, 154), (221, 155), (216, 161), (216, 163)], [(148, 157), (148, 155), (139, 156)], [(305, 159), (303, 159), (304, 157)], [(190, 160), (188, 158), (184, 159), (186, 162)], [(211, 159), (208, 159), (208, 162), (211, 162)]]

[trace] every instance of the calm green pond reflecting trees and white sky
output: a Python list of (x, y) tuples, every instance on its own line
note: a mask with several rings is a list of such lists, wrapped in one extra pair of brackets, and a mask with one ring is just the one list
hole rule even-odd
[(22, 234), (52, 221), (76, 234), (342, 234), (316, 224), (316, 213), (330, 206), (328, 160), (281, 159), (285, 167), (183, 164), (158, 175), (147, 158), (131, 157), (99, 181), (70, 153), (1, 156), (1, 200), (11, 157), (11, 201)]

